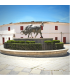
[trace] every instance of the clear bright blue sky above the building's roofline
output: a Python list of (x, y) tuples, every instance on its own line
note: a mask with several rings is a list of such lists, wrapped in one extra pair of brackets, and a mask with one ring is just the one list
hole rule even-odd
[(11, 22), (69, 22), (69, 5), (0, 5), (0, 25)]

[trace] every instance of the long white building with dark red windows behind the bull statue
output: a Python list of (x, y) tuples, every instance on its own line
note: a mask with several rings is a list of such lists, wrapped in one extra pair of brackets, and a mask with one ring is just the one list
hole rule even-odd
[[(61, 22), (43, 22), (44, 27), (42, 27), (43, 38), (53, 38), (53, 40), (60, 40), (64, 43), (70, 43), (70, 23)], [(20, 23), (10, 23), (0, 26), (0, 44), (3, 44), (7, 40), (12, 40), (15, 38), (27, 38), (28, 35), (21, 35), (21, 30), (24, 30), (28, 24), (41, 25), (42, 22), (20, 22)], [(32, 33), (33, 38), (36, 34)], [(31, 37), (31, 35), (29, 36)], [(36, 38), (40, 38), (40, 34)]]

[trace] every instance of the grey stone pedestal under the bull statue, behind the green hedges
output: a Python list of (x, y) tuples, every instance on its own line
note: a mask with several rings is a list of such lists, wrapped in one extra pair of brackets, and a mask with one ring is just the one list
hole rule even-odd
[(47, 47), (46, 47), (46, 44), (44, 43), (44, 41), (46, 40), (53, 40), (53, 38), (13, 38), (13, 40), (24, 40), (24, 41), (35, 41), (35, 43), (41, 43), (42, 44), (42, 50), (46, 50)]

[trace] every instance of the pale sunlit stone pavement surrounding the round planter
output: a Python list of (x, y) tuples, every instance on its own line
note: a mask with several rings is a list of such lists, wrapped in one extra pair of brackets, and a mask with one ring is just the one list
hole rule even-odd
[(70, 44), (64, 47), (69, 50), (63, 57), (18, 57), (0, 52), (0, 75), (70, 75)]

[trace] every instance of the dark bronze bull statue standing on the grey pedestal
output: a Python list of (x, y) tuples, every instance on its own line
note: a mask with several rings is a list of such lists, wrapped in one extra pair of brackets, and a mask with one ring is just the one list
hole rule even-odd
[(32, 32), (34, 34), (36, 33), (35, 38), (38, 35), (38, 33), (40, 33), (41, 38), (43, 38), (42, 32), (41, 32), (41, 26), (44, 26), (43, 22), (42, 22), (42, 24), (40, 26), (34, 26), (34, 25), (30, 24), (30, 25), (26, 26), (25, 30), (22, 30), (20, 33), (23, 33), (25, 35), (28, 34), (28, 38), (29, 38), (30, 34), (31, 34), (31, 37), (32, 37)]

